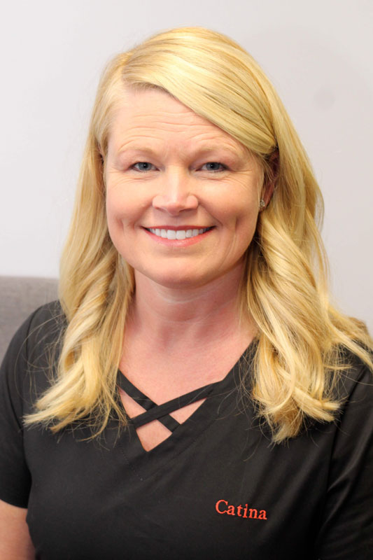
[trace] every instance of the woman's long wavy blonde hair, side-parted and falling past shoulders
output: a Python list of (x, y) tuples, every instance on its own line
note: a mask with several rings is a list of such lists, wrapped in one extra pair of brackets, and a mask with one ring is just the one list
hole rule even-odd
[(192, 27), (162, 32), (118, 55), (101, 78), (62, 255), (60, 301), (67, 327), (57, 376), (27, 423), (58, 431), (94, 419), (92, 433), (98, 435), (113, 411), (126, 422), (115, 380), (134, 275), (108, 235), (103, 179), (108, 134), (125, 87), (169, 92), (244, 144), (259, 158), (264, 181), (276, 181), (246, 251), (241, 283), (241, 311), (258, 328), (250, 398), (275, 442), (297, 435), (307, 418), (331, 421), (339, 407), (333, 379), (346, 367), (342, 349), (372, 367), (372, 339), (363, 323), (330, 305), (317, 227), (320, 190), (260, 66), (230, 38)]

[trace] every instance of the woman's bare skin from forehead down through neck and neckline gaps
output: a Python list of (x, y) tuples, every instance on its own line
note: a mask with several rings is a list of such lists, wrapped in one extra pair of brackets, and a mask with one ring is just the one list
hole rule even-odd
[[(258, 161), (169, 94), (127, 90), (105, 180), (108, 230), (136, 280), (122, 372), (158, 404), (223, 379), (255, 333), (239, 321), (237, 293), (260, 197), (270, 196)], [(170, 241), (149, 228), (211, 229)], [(129, 416), (143, 412), (121, 395)], [(172, 415), (185, 421), (201, 404)], [(158, 421), (137, 433), (147, 451), (170, 435)]]

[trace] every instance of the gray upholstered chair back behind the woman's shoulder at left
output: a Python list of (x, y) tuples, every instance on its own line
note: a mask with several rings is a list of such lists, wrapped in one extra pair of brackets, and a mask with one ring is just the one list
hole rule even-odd
[(57, 299), (57, 279), (0, 276), (0, 362), (10, 339), (37, 307)]

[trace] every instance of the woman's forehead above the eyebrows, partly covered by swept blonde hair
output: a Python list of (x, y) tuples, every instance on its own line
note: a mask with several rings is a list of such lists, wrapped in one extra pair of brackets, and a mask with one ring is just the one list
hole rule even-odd
[(115, 150), (139, 141), (171, 141), (185, 148), (213, 143), (248, 155), (247, 148), (230, 134), (157, 88), (125, 90), (113, 113), (108, 141), (109, 149)]

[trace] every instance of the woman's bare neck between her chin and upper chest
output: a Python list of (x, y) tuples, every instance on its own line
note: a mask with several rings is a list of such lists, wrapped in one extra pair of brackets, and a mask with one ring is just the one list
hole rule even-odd
[(160, 286), (135, 272), (136, 295), (127, 332), (165, 350), (179, 344), (206, 348), (237, 335), (250, 342), (253, 323), (239, 316), (241, 274), (238, 265), (205, 286), (179, 289)]

